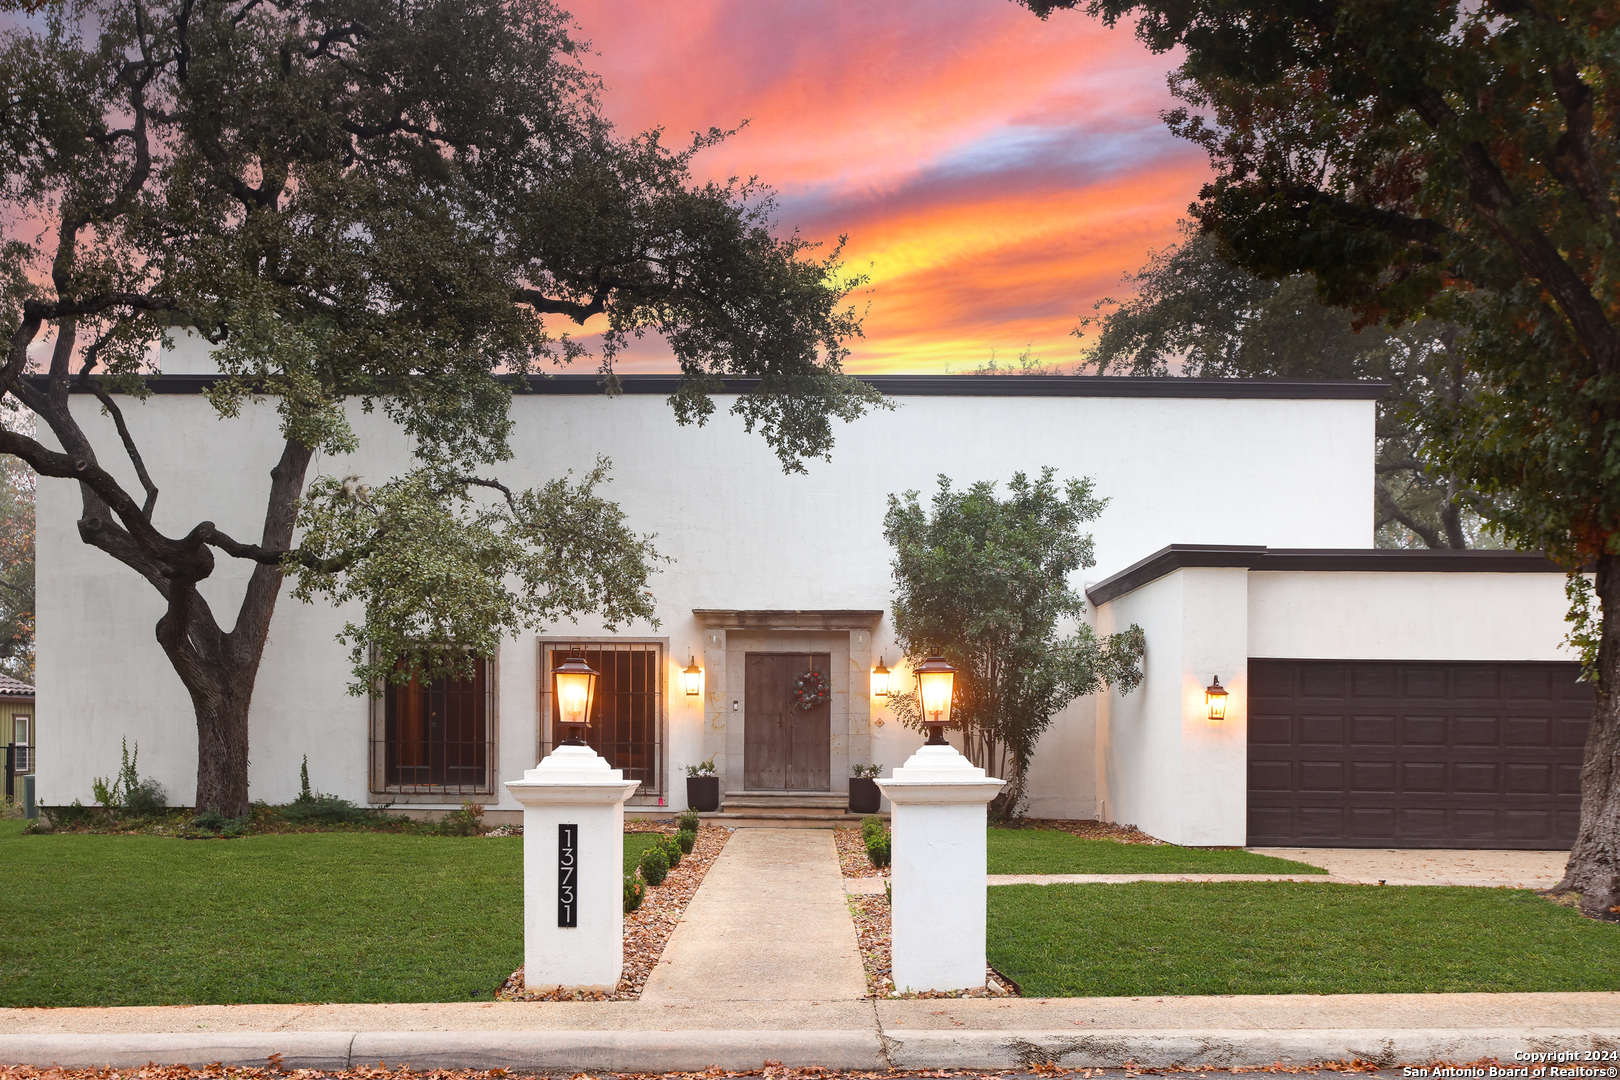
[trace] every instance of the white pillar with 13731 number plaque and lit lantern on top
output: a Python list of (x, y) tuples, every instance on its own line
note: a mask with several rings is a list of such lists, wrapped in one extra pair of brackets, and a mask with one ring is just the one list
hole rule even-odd
[(570, 657), (556, 674), (570, 737), (522, 780), (523, 984), (612, 991), (624, 972), (624, 801), (640, 780), (585, 745), (596, 672)]

